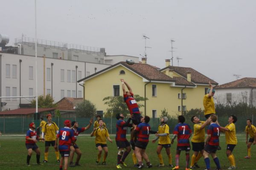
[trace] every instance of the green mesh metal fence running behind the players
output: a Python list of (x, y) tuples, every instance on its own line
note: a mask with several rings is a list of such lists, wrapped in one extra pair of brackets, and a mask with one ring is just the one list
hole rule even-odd
[[(244, 133), (244, 129), (246, 126), (246, 120), (250, 118), (253, 120), (253, 115), (250, 117), (244, 117), (240, 116), (238, 117), (238, 121), (236, 122), (236, 132), (237, 133)], [(67, 118), (58, 118), (58, 117), (53, 117), (52, 121), (54, 121), (58, 127), (64, 127), (63, 122)], [(79, 122), (79, 127), (86, 127), (89, 124), (90, 118), (79, 118), (79, 117), (73, 117), (69, 118), (70, 121), (77, 121)], [(190, 127), (193, 129), (193, 123), (190, 121), (191, 118), (186, 118), (185, 123), (189, 124)], [(94, 121), (96, 119), (94, 118)], [(110, 134), (115, 134), (116, 133), (116, 118), (103, 118), (108, 131)], [(201, 118), (201, 121), (204, 121), (205, 118)], [(218, 117), (218, 122), (221, 124), (221, 126), (226, 126), (228, 123), (228, 117)], [(39, 126), (40, 121), (39, 120), (33, 120), (33, 118), (26, 118), (26, 117), (19, 117), (19, 118), (4, 118), (0, 117), (0, 131), (3, 134), (25, 134), (26, 131), (29, 129), (29, 123), (35, 122), (36, 127)], [(149, 124), (151, 125), (151, 130), (156, 130), (158, 129), (158, 125), (160, 123), (159, 118), (151, 118)], [(167, 123), (169, 125), (170, 133), (172, 133), (175, 125), (177, 124), (177, 119), (172, 118), (168, 121)], [(86, 130), (84, 134), (90, 134), (93, 130), (93, 125), (90, 127), (89, 130)], [(130, 133), (130, 128), (127, 132), (128, 134)]]

